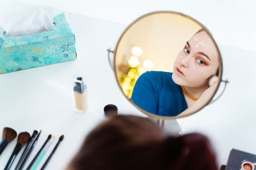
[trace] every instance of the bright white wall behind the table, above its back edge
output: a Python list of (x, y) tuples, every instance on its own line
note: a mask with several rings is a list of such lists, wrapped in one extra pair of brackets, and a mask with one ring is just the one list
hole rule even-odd
[[(3, 0), (1, 0), (3, 1)], [(204, 24), (218, 43), (256, 50), (254, 0), (20, 0), (129, 24), (150, 11), (179, 11)]]

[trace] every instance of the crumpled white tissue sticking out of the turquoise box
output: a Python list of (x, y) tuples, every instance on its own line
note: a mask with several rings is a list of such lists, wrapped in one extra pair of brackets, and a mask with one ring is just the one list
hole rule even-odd
[(52, 29), (52, 18), (60, 13), (63, 11), (48, 6), (4, 0), (0, 5), (0, 27), (5, 36), (29, 36)]

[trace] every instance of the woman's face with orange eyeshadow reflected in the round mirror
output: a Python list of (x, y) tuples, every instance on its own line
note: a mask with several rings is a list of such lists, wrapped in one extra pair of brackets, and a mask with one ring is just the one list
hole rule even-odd
[(184, 87), (207, 87), (207, 80), (219, 67), (218, 51), (205, 31), (198, 32), (179, 52), (173, 65), (172, 78)]

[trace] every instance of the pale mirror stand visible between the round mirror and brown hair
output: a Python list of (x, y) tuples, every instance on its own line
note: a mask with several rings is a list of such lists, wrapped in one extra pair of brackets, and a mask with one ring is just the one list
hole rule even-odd
[(181, 128), (180, 128), (179, 122), (176, 119), (163, 120), (163, 119), (152, 118), (152, 117), (148, 117), (148, 118), (156, 122), (156, 124), (159, 125), (159, 127), (163, 128), (166, 134), (169, 134), (172, 136), (180, 136)]

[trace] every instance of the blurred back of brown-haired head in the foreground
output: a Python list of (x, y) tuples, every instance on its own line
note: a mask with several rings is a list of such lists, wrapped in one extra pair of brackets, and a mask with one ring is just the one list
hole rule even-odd
[[(204, 146), (204, 149), (207, 148), (207, 142), (200, 143), (206, 138), (193, 134), (194, 137), (195, 135), (202, 138), (198, 138), (199, 142), (196, 143)], [(79, 152), (70, 162), (69, 169), (194, 169), (193, 164), (200, 158), (191, 159), (190, 153), (200, 154), (202, 150), (195, 151), (198, 148), (193, 143), (196, 149), (190, 151), (187, 141), (189, 136), (166, 136), (147, 118), (117, 115), (88, 134)], [(184, 160), (190, 163), (187, 164)], [(213, 159), (212, 162), (216, 161)]]

